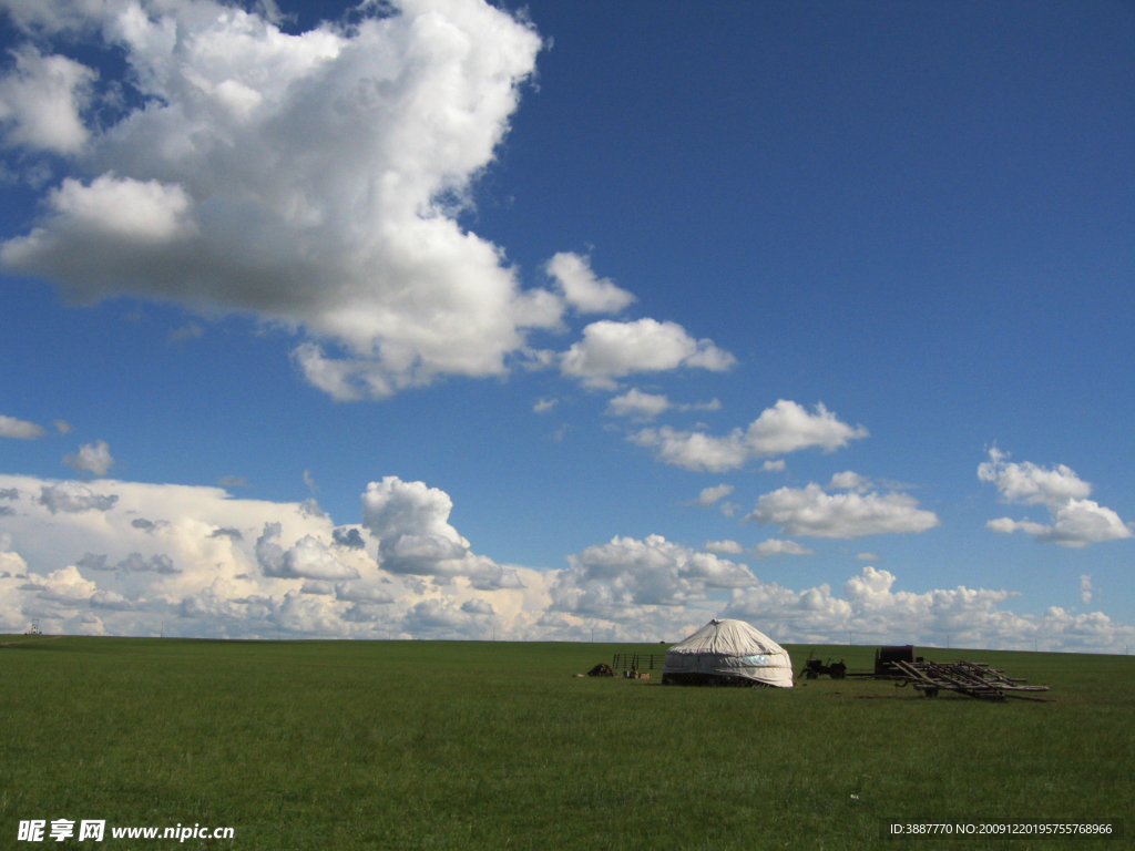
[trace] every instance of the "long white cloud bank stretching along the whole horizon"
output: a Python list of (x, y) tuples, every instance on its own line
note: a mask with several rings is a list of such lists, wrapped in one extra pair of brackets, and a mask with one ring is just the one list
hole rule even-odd
[[(449, 523), (445, 491), (397, 477), (371, 482), (361, 522), (345, 525), (311, 503), (213, 487), (0, 475), (0, 499), (5, 632), (39, 618), (79, 634), (657, 641), (729, 616), (785, 642), (948, 633), (955, 646), (1118, 652), (1135, 639), (1101, 612), (1018, 615), (1003, 608), (1012, 590), (896, 590), (874, 566), (842, 596), (792, 590), (725, 557), (742, 551), (734, 541), (616, 536), (560, 570), (498, 565)], [(756, 555), (801, 550), (777, 540)]]

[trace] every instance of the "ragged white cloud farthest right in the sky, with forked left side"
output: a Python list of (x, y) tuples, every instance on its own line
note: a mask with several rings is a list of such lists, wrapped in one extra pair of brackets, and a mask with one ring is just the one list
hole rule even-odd
[(1099, 541), (1112, 541), (1133, 536), (1111, 508), (1087, 499), (1092, 486), (1083, 481), (1063, 464), (1052, 470), (1031, 462), (1022, 464), (1006, 461), (1008, 454), (990, 449), (990, 460), (977, 466), (977, 478), (993, 482), (1007, 503), (1043, 505), (1052, 523), (1045, 525), (1027, 517), (1015, 521), (999, 517), (985, 525), (995, 532), (1023, 531), (1041, 542), (1061, 547), (1086, 547)]

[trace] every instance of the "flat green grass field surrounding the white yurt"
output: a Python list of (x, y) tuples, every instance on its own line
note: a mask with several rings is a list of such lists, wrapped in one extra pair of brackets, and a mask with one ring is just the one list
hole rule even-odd
[[(1135, 809), (1132, 657), (919, 650), (1052, 686), (990, 703), (571, 676), (657, 644), (0, 642), (0, 848), (977, 849), (1008, 843), (883, 842), (880, 819)], [(787, 649), (799, 671), (809, 648)], [(874, 648), (817, 652), (867, 668)], [(16, 841), (57, 818), (106, 819), (106, 840)], [(109, 833), (178, 823), (235, 837)]]

